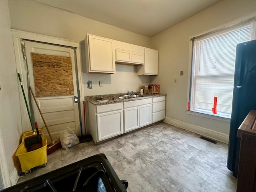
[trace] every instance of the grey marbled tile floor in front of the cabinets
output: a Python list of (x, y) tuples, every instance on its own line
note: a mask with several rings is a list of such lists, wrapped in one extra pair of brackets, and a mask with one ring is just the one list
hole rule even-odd
[(44, 168), (18, 183), (98, 153), (106, 154), (128, 192), (234, 192), (237, 179), (226, 168), (228, 145), (164, 122), (95, 145), (80, 143), (47, 157)]

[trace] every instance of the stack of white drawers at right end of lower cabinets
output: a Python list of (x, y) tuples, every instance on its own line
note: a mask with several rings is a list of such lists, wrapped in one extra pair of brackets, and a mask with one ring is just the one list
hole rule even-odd
[(152, 123), (165, 118), (165, 96), (152, 98)]

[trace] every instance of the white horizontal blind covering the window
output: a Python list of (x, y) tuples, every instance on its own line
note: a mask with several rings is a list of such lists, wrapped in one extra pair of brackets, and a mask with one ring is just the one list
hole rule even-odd
[[(236, 45), (251, 40), (252, 24), (194, 40), (191, 110), (230, 118)], [(217, 97), (217, 114), (212, 113)]]

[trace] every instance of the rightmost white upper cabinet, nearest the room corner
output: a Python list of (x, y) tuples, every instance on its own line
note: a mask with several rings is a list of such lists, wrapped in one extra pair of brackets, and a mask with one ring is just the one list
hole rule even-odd
[(144, 66), (138, 66), (138, 75), (158, 75), (158, 50), (145, 48)]

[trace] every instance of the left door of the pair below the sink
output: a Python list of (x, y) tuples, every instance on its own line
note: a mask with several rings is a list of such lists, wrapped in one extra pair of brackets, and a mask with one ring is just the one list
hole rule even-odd
[(124, 132), (139, 128), (139, 108), (124, 109)]

